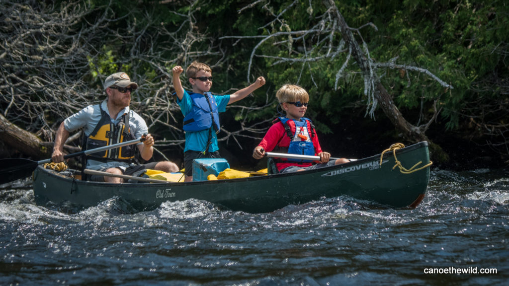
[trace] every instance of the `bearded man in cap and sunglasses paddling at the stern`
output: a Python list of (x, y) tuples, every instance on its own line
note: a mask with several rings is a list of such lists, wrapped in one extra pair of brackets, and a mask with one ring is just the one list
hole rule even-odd
[[(64, 160), (64, 143), (70, 132), (83, 128), (82, 148), (94, 149), (107, 145), (141, 138), (145, 140), (136, 146), (129, 145), (121, 148), (92, 153), (87, 156), (88, 169), (105, 171), (117, 175), (132, 175), (142, 169), (156, 169), (165, 172), (177, 172), (179, 168), (169, 161), (151, 162), (143, 165), (133, 163), (136, 149), (144, 160), (152, 158), (154, 152), (154, 138), (148, 134), (148, 127), (136, 112), (129, 109), (131, 92), (138, 88), (136, 82), (131, 81), (124, 72), (111, 74), (104, 81), (106, 99), (96, 105), (89, 105), (74, 115), (68, 117), (56, 132), (55, 144), (51, 160), (62, 162)], [(122, 183), (122, 178), (106, 176), (90, 176), (91, 181), (104, 181), (110, 183)]]

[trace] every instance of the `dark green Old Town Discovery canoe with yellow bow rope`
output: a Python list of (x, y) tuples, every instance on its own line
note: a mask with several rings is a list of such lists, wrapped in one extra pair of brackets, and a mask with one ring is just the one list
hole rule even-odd
[(425, 196), (430, 177), (428, 142), (386, 151), (382, 160), (378, 154), (297, 173), (188, 183), (88, 182), (40, 165), (34, 171), (34, 195), (41, 206), (51, 202), (77, 209), (119, 196), (138, 211), (195, 198), (233, 211), (264, 213), (340, 195), (389, 208), (415, 208)]

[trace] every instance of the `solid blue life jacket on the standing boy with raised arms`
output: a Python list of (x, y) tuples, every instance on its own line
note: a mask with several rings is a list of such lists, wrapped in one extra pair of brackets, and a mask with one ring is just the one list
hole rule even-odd
[(196, 132), (213, 127), (218, 132), (219, 112), (212, 94), (192, 93), (189, 96), (192, 100), (192, 110), (184, 117), (184, 131)]

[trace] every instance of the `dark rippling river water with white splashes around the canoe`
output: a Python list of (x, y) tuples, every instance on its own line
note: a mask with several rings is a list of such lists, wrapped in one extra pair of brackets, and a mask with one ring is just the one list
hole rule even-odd
[(15, 184), (0, 189), (0, 284), (508, 283), (508, 170), (432, 168), (416, 209), (372, 206), (335, 197), (248, 214), (191, 199), (135, 213), (114, 198), (63, 213)]

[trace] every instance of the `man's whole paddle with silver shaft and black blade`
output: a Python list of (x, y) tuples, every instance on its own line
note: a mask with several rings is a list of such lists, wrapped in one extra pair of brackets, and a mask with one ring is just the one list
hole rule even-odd
[[(134, 140), (121, 142), (121, 143), (117, 143), (117, 144), (110, 145), (110, 146), (104, 146), (104, 147), (99, 147), (99, 148), (90, 149), (90, 150), (84, 150), (84, 151), (80, 151), (80, 152), (76, 152), (76, 153), (72, 153), (72, 154), (67, 154), (64, 156), (64, 159), (78, 157), (81, 155), (88, 155), (91, 153), (97, 153), (97, 152), (106, 151), (109, 149), (115, 149), (115, 148), (128, 146), (128, 145), (133, 145), (138, 142), (145, 141), (145, 135), (146, 134), (144, 134), (142, 136), (142, 138), (139, 138), (139, 139), (134, 139)], [(51, 158), (45, 159), (45, 160), (40, 160), (40, 161), (33, 161), (30, 159), (24, 159), (24, 158), (0, 159), (0, 185), (17, 180), (17, 179), (28, 177), (28, 176), (32, 175), (32, 172), (38, 165), (50, 163), (50, 162), (51, 162)]]

